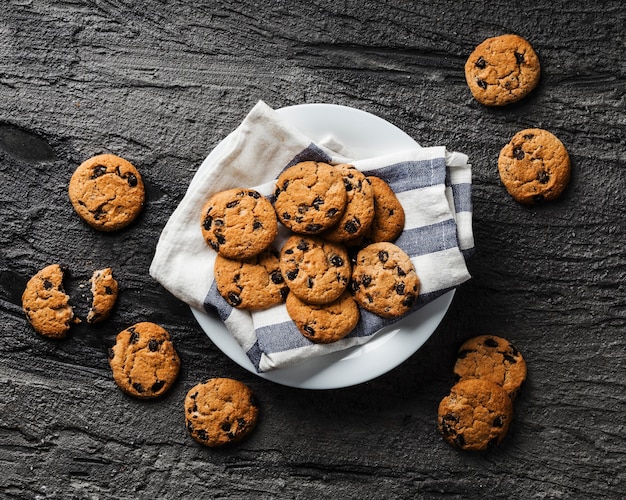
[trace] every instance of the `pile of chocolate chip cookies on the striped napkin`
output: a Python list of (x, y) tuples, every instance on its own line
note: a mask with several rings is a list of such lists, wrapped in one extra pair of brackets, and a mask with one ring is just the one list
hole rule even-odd
[[(279, 222), (289, 234), (277, 249)], [(402, 205), (384, 180), (352, 165), (297, 163), (270, 199), (247, 188), (218, 192), (201, 226), (218, 254), (215, 282), (226, 302), (247, 310), (285, 302), (316, 343), (348, 335), (359, 307), (397, 318), (419, 294), (413, 263), (393, 244), (404, 228)]]

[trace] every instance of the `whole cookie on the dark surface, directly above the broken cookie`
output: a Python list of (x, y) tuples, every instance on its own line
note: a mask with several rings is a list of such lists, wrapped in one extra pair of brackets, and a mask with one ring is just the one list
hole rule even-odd
[(137, 169), (112, 154), (94, 156), (74, 171), (69, 197), (76, 213), (100, 231), (130, 224), (143, 209), (145, 188)]

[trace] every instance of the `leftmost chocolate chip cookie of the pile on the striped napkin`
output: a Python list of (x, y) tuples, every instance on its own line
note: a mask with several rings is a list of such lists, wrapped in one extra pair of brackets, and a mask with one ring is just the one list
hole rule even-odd
[(268, 248), (278, 233), (272, 204), (254, 189), (227, 189), (202, 208), (202, 236), (220, 255), (247, 259)]

